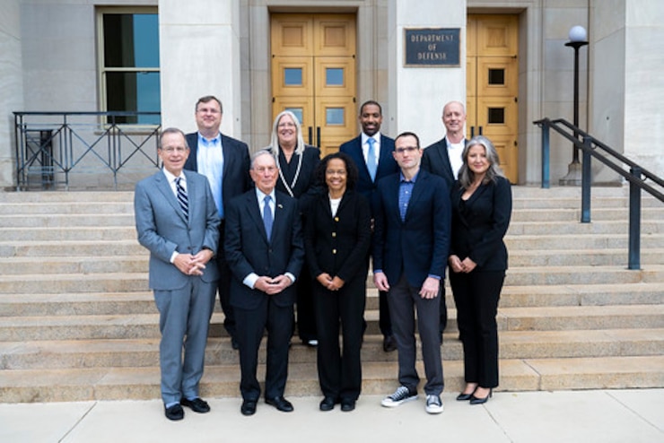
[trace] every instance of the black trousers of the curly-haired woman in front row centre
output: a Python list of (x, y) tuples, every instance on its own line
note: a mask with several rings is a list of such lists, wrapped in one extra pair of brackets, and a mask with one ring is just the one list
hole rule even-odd
[[(337, 400), (357, 400), (362, 388), (365, 281), (366, 273), (345, 282), (339, 291), (328, 291), (314, 282), (320, 390)], [(339, 326), (343, 348), (339, 345)]]

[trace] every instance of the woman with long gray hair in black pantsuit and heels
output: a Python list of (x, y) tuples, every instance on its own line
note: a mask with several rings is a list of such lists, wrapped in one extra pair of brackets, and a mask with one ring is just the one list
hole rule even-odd
[(464, 351), (466, 387), (457, 400), (484, 404), (498, 386), (495, 316), (507, 270), (502, 241), (511, 217), (511, 186), (494, 144), (478, 135), (466, 143), (452, 194), (450, 285)]

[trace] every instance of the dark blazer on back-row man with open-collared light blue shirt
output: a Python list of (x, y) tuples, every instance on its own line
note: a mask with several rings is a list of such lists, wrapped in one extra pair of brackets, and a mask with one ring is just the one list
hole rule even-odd
[[(185, 169), (198, 171), (198, 133), (186, 135), (189, 145), (189, 158), (185, 162)], [(223, 151), (223, 176), (222, 176), (222, 204), (226, 204), (233, 197), (241, 195), (253, 187), (253, 181), (249, 176), (249, 146), (232, 137), (222, 134)]]

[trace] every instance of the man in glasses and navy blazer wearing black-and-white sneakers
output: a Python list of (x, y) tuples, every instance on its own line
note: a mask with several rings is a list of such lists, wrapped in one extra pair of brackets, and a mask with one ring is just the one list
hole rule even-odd
[(417, 398), (415, 307), (426, 373), (425, 410), (441, 413), (439, 309), (450, 249), (450, 192), (442, 178), (420, 169), (417, 135), (398, 135), (394, 158), (401, 170), (380, 180), (374, 199), (373, 282), (380, 291), (389, 291), (401, 386), (382, 405), (395, 407)]

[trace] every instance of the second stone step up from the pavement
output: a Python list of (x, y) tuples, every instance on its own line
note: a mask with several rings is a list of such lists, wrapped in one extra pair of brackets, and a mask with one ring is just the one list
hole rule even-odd
[[(570, 331), (503, 331), (500, 336), (502, 359), (546, 359), (661, 355), (664, 353), (664, 329), (603, 329)], [(266, 341), (259, 352), (265, 363)], [(239, 365), (238, 352), (228, 337), (211, 337), (205, 350), (208, 366)], [(457, 333), (444, 334), (443, 360), (462, 360)], [(76, 369), (141, 368), (159, 366), (159, 338), (57, 340), (40, 342), (0, 342), (0, 369)], [(382, 337), (367, 335), (363, 343), (363, 361), (397, 361), (397, 352), (383, 352)], [(421, 359), (421, 352), (418, 352)], [(316, 364), (316, 348), (293, 338), (289, 360), (292, 363)]]

